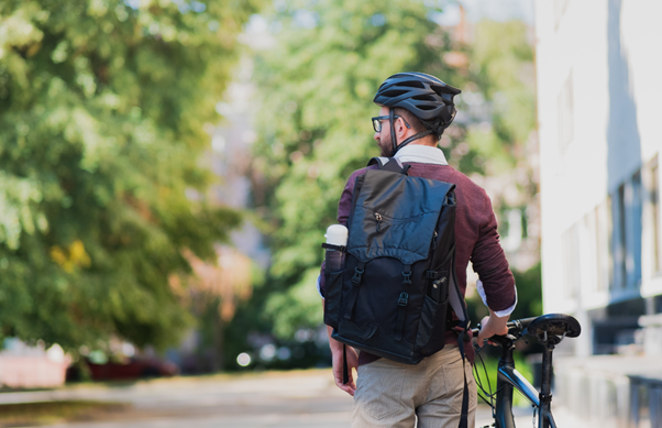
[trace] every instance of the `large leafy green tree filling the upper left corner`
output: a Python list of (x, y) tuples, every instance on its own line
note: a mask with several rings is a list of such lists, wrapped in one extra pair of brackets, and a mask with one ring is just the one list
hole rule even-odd
[(240, 221), (199, 160), (256, 7), (0, 3), (0, 334), (163, 347), (190, 325), (169, 283)]

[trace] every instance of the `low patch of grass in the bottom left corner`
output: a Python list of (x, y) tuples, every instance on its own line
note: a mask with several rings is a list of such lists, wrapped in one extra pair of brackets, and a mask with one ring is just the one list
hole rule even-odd
[(124, 403), (62, 400), (0, 405), (0, 427), (29, 427), (67, 420), (92, 419), (99, 414), (129, 408)]

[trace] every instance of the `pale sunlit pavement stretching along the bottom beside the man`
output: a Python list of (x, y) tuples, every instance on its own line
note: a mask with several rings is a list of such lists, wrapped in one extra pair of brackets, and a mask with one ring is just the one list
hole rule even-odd
[[(350, 426), (352, 411), (352, 397), (335, 387), (330, 370), (176, 377), (0, 394), (0, 404), (65, 399), (121, 402), (131, 406), (93, 415), (88, 420), (48, 427), (344, 428)], [(531, 409), (516, 409), (515, 414), (518, 426), (532, 424)], [(479, 406), (476, 426), (488, 424), (492, 424), (490, 410)]]

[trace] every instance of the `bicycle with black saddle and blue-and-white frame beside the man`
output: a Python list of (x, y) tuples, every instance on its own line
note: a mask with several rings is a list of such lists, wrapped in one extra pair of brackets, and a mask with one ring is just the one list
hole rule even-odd
[[(490, 391), (487, 392), (483, 388), (479, 376), (474, 374), (474, 377), (476, 377), (476, 385), (483, 394), (489, 397), (489, 402), (487, 402), (485, 397), (478, 394), (478, 396), (493, 409), (495, 421), (492, 426), (495, 428), (515, 428), (512, 391), (517, 389), (538, 411), (538, 428), (556, 428), (551, 409), (552, 353), (554, 348), (561, 343), (564, 338), (576, 338), (580, 336), (582, 327), (575, 318), (563, 314), (548, 314), (540, 317), (514, 320), (508, 322), (507, 327), (508, 334), (493, 336), (489, 338), (490, 342), (501, 347), (501, 356), (499, 358), (497, 369), (496, 393), (492, 393), (489, 380), (488, 387)], [(478, 331), (481, 331), (479, 328), (472, 330), (474, 338), (478, 334)], [(536, 336), (543, 344), (542, 383), (540, 392), (515, 369), (515, 360), (512, 359), (515, 342), (527, 334)], [(474, 344), (474, 347), (476, 348), (476, 356), (482, 361), (479, 355), (482, 348), (477, 344)], [(476, 367), (476, 364), (474, 364), (474, 367)], [(483, 364), (483, 367), (485, 369), (485, 364)], [(485, 373), (487, 374), (486, 370)], [(495, 396), (496, 403), (493, 400), (493, 397)]]

